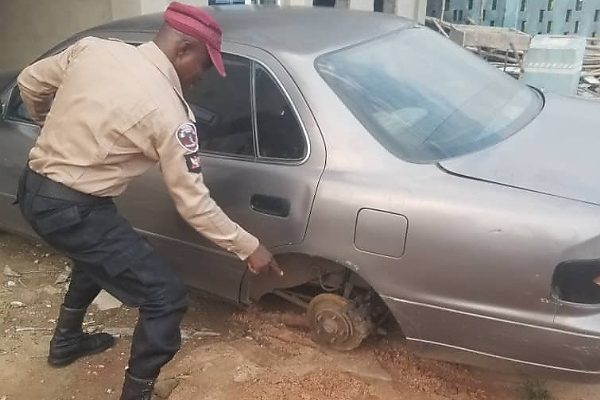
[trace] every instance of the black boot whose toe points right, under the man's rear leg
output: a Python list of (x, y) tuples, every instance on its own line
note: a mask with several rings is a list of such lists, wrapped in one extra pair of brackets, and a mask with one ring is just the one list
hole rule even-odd
[(83, 333), (82, 324), (86, 310), (60, 307), (60, 314), (54, 336), (50, 341), (48, 363), (55, 367), (64, 367), (89, 354), (101, 353), (115, 343), (108, 333)]

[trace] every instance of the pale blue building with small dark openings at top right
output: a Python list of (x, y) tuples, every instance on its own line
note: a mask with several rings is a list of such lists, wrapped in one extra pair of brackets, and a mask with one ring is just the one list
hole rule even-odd
[(600, 0), (429, 0), (427, 15), (538, 34), (600, 35)]

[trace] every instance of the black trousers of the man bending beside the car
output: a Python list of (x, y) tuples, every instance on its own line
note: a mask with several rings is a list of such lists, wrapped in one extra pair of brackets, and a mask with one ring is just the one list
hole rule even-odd
[(110, 198), (72, 191), (27, 168), (17, 202), (34, 231), (73, 260), (66, 307), (87, 308), (104, 289), (139, 308), (129, 372), (156, 378), (181, 346), (179, 325), (188, 306), (186, 288), (167, 261)]

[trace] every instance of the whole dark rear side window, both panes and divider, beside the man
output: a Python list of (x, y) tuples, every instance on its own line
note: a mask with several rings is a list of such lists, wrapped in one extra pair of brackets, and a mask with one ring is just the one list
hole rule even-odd
[(187, 95), (205, 153), (253, 160), (301, 160), (304, 131), (274, 77), (244, 57), (224, 54), (227, 76), (210, 70)]

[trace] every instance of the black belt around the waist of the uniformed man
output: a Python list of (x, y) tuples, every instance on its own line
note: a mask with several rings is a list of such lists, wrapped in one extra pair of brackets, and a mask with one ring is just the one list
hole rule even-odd
[(98, 197), (71, 189), (62, 183), (38, 174), (29, 166), (25, 169), (25, 187), (39, 196), (76, 203), (99, 204), (109, 202), (112, 199), (111, 197)]

